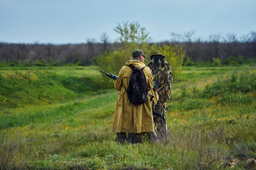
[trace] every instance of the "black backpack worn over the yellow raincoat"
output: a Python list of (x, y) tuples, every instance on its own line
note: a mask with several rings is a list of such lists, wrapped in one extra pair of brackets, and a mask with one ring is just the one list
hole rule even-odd
[(130, 102), (134, 105), (141, 105), (148, 99), (148, 85), (144, 68), (135, 68), (133, 65), (128, 65), (132, 69), (131, 80), (126, 90)]

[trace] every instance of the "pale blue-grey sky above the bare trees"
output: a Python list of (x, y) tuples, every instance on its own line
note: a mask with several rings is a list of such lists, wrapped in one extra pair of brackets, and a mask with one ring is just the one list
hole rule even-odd
[(256, 31), (256, 0), (0, 0), (0, 42), (111, 42), (117, 23), (138, 21), (152, 42), (171, 32), (195, 37)]

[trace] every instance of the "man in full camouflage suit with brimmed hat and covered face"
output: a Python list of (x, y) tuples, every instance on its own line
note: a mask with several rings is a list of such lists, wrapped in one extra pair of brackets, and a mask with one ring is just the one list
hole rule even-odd
[(154, 88), (157, 89), (159, 100), (153, 106), (153, 111), (160, 113), (160, 116), (153, 116), (159, 139), (165, 140), (167, 137), (166, 111), (167, 101), (172, 94), (172, 71), (169, 62), (164, 60), (165, 56), (160, 51), (154, 51), (150, 56), (152, 61), (148, 62), (148, 67), (154, 75)]

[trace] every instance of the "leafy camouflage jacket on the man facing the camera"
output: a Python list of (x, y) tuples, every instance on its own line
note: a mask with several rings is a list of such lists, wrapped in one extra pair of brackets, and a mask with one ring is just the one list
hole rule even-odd
[(165, 62), (165, 66), (161, 70), (152, 70), (152, 61), (148, 62), (148, 67), (154, 75), (154, 88), (157, 89), (159, 101), (161, 104), (166, 103), (172, 94), (172, 70), (169, 62)]

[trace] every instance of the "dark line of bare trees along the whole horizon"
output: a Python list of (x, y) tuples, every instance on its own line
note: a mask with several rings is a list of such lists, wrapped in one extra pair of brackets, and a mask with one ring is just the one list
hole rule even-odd
[[(115, 31), (123, 34), (128, 23), (119, 24)], [(132, 23), (136, 26), (138, 23)], [(140, 28), (140, 25), (137, 26)], [(137, 30), (139, 30), (137, 28)], [(129, 28), (128, 28), (129, 29)], [(144, 31), (144, 33), (143, 33)], [(149, 41), (148, 32), (145, 28), (140, 32), (139, 37), (145, 36)], [(120, 36), (122, 37), (122, 36)], [(103, 33), (100, 37), (101, 42), (96, 42), (94, 38), (88, 38), (85, 43), (79, 44), (40, 44), (35, 43), (7, 43), (0, 42), (0, 63), (4, 65), (55, 65), (61, 66), (66, 64), (93, 65), (97, 64), (100, 54), (105, 51), (115, 51), (122, 47), (127, 40), (134, 39), (134, 34), (119, 42), (110, 42), (108, 34)], [(143, 42), (144, 40), (142, 40)], [(140, 42), (139, 42), (140, 43)], [(183, 34), (171, 33), (170, 40), (150, 44), (177, 45), (186, 51), (184, 61), (188, 65), (195, 63), (212, 63), (218, 59), (221, 64), (227, 64), (227, 60), (237, 63), (255, 62), (256, 60), (256, 31), (251, 31), (241, 37), (236, 34), (228, 33), (224, 36), (221, 34), (211, 34), (206, 40), (195, 38), (195, 31), (184, 32)], [(152, 51), (151, 51), (152, 52)], [(148, 54), (150, 55), (150, 54)]]

